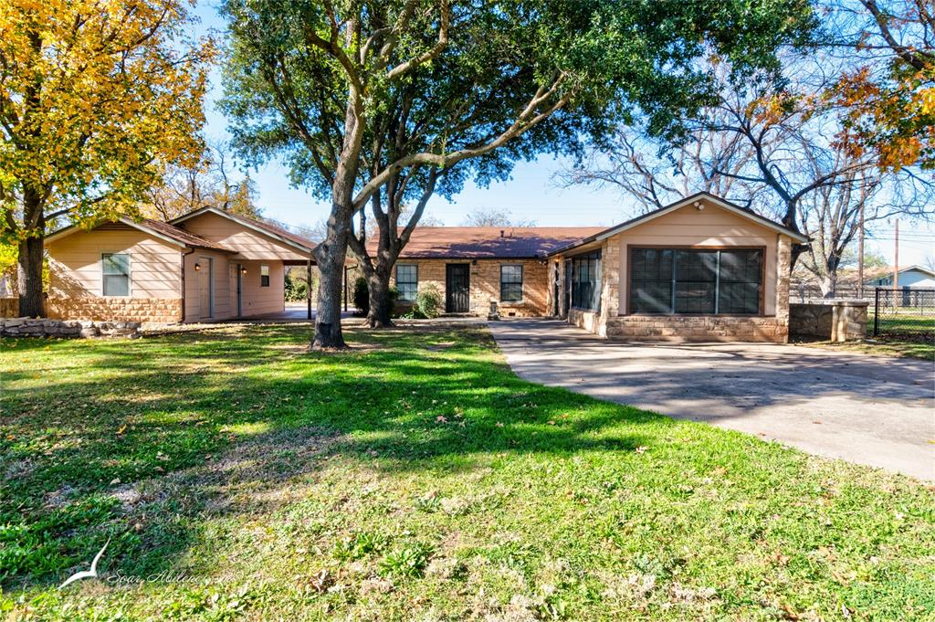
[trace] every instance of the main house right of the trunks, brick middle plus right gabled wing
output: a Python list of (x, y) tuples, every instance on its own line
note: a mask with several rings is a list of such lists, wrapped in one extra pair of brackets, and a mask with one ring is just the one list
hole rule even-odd
[(610, 228), (417, 227), (392, 282), (445, 311), (565, 318), (628, 340), (788, 340), (792, 245), (808, 240), (699, 193)]

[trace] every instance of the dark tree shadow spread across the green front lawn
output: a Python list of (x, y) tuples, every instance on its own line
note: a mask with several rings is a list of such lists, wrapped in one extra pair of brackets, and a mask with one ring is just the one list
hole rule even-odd
[(22, 348), (38, 360), (5, 378), (0, 582), (53, 585), (108, 538), (127, 574), (175, 570), (207, 516), (275, 509), (289, 500), (276, 489), (314, 478), (326, 454), (458, 472), (491, 456), (648, 447), (685, 469), (759, 461), (758, 485), (777, 486), (798, 459), (776, 468), (768, 445), (741, 435), (681, 458), (670, 437), (686, 424), (520, 380), (476, 328), (347, 332), (379, 347), (283, 354), (307, 329), (266, 325)]

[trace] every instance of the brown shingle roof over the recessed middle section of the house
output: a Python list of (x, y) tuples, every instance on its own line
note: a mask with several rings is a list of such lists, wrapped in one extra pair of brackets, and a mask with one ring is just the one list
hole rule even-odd
[[(602, 231), (599, 226), (420, 226), (400, 259), (533, 259)], [(373, 240), (371, 253), (375, 250)]]

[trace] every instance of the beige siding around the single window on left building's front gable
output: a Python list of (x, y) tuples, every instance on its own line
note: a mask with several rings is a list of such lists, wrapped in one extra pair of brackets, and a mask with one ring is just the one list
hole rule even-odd
[(80, 231), (46, 248), (50, 298), (102, 296), (102, 253), (130, 255), (129, 297), (181, 297), (180, 247), (132, 227)]

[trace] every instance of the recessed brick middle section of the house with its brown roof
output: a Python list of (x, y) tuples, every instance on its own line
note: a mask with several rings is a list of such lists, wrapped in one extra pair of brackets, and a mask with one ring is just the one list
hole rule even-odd
[[(504, 317), (549, 314), (545, 255), (600, 227), (420, 226), (391, 276), (398, 306), (410, 307), (427, 283), (448, 313), (486, 316), (496, 301)], [(371, 249), (375, 253), (376, 249)]]

